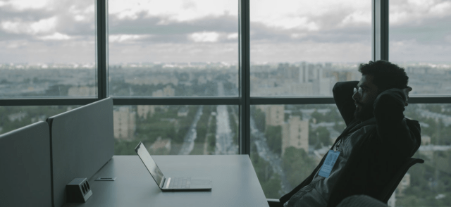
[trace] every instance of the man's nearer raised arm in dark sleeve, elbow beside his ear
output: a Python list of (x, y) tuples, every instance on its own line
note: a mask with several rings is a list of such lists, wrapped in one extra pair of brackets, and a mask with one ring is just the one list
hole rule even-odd
[(404, 106), (407, 96), (402, 89), (388, 89), (382, 92), (374, 101), (374, 117), (378, 138), (383, 144), (395, 149), (405, 156), (412, 156), (412, 150), (419, 143), (418, 129), (410, 129), (404, 119)]

